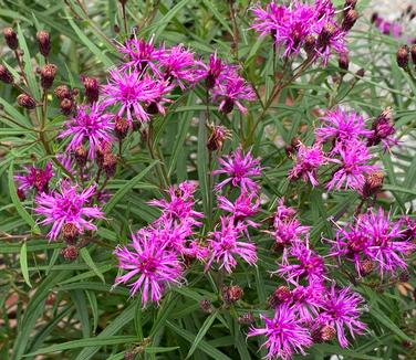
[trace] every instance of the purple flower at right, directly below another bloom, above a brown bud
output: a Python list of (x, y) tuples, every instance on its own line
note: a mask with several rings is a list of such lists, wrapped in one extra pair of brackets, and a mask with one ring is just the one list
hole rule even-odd
[(333, 173), (332, 180), (326, 184), (329, 190), (354, 189), (360, 190), (365, 183), (365, 174), (377, 170), (377, 166), (368, 165), (371, 153), (364, 142), (351, 140), (347, 144), (336, 144), (333, 153), (341, 159), (331, 159), (340, 168)]

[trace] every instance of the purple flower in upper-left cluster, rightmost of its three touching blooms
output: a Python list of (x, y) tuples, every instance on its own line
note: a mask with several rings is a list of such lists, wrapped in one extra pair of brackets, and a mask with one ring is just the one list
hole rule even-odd
[(194, 84), (198, 81), (196, 65), (198, 63), (194, 59), (194, 53), (179, 44), (170, 49), (164, 49), (164, 53), (159, 59), (159, 72), (165, 81), (176, 82), (181, 89), (186, 88), (187, 82)]

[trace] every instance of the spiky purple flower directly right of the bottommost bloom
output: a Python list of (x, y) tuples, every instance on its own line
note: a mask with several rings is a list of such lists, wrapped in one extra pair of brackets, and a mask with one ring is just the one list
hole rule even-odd
[(363, 298), (354, 294), (349, 287), (335, 289), (335, 285), (326, 293), (322, 304), (320, 315), (316, 318), (318, 326), (329, 325), (336, 330), (337, 339), (343, 348), (349, 346), (345, 328), (350, 335), (363, 335), (366, 329), (365, 324), (360, 321)]

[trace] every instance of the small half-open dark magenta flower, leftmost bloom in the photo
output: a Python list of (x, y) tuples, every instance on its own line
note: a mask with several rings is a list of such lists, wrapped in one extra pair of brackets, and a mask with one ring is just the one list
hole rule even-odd
[(30, 189), (35, 189), (38, 192), (49, 191), (49, 181), (53, 177), (51, 162), (48, 162), (44, 169), (25, 167), (25, 174), (14, 177), (14, 180), (20, 183), (19, 191), (23, 193)]

